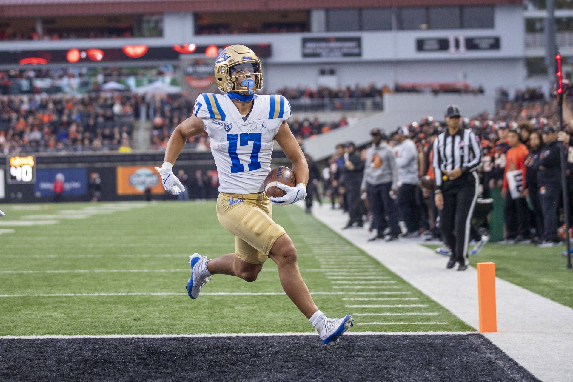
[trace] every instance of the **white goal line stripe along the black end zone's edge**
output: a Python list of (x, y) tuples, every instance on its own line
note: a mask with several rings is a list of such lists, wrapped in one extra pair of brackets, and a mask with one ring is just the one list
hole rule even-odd
[[(411, 324), (411, 322), (406, 322)], [(426, 324), (426, 322), (423, 322)], [(356, 324), (355, 324), (356, 325)], [(346, 332), (345, 336), (444, 336), (465, 335), (478, 332)], [(203, 334), (99, 334), (83, 336), (77, 334), (66, 336), (63, 334), (46, 334), (44, 336), (0, 336), (0, 340), (68, 340), (74, 338), (205, 338), (205, 337), (272, 337), (272, 336), (316, 336), (315, 333), (203, 333)]]

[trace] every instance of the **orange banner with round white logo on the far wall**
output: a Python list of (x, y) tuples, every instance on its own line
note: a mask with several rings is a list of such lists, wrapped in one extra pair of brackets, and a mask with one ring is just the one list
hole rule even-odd
[(151, 186), (151, 194), (162, 195), (161, 176), (153, 166), (117, 167), (117, 195), (143, 195), (146, 186)]

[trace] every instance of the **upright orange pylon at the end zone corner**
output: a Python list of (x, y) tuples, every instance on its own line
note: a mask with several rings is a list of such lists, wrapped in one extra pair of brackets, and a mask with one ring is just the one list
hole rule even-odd
[(480, 333), (497, 332), (496, 263), (477, 263)]

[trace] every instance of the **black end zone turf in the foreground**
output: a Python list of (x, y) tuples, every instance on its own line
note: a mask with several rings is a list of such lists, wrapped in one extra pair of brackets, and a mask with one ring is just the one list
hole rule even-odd
[(0, 340), (2, 381), (538, 381), (480, 334)]

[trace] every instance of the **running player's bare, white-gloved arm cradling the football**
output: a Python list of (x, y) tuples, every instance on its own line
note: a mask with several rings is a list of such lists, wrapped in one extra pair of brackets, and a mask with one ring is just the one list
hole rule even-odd
[(307, 197), (307, 183), (308, 183), (308, 163), (304, 157), (303, 150), (301, 150), (299, 143), (292, 135), (291, 128), (286, 121), (283, 121), (278, 128), (277, 134), (274, 136), (278, 145), (284, 151), (286, 157), (292, 162), (292, 171), (295, 173), (296, 187), (286, 186), (286, 184), (278, 183), (277, 188), (286, 192), (285, 196), (270, 198), (273, 204), (291, 204), (300, 199)]

